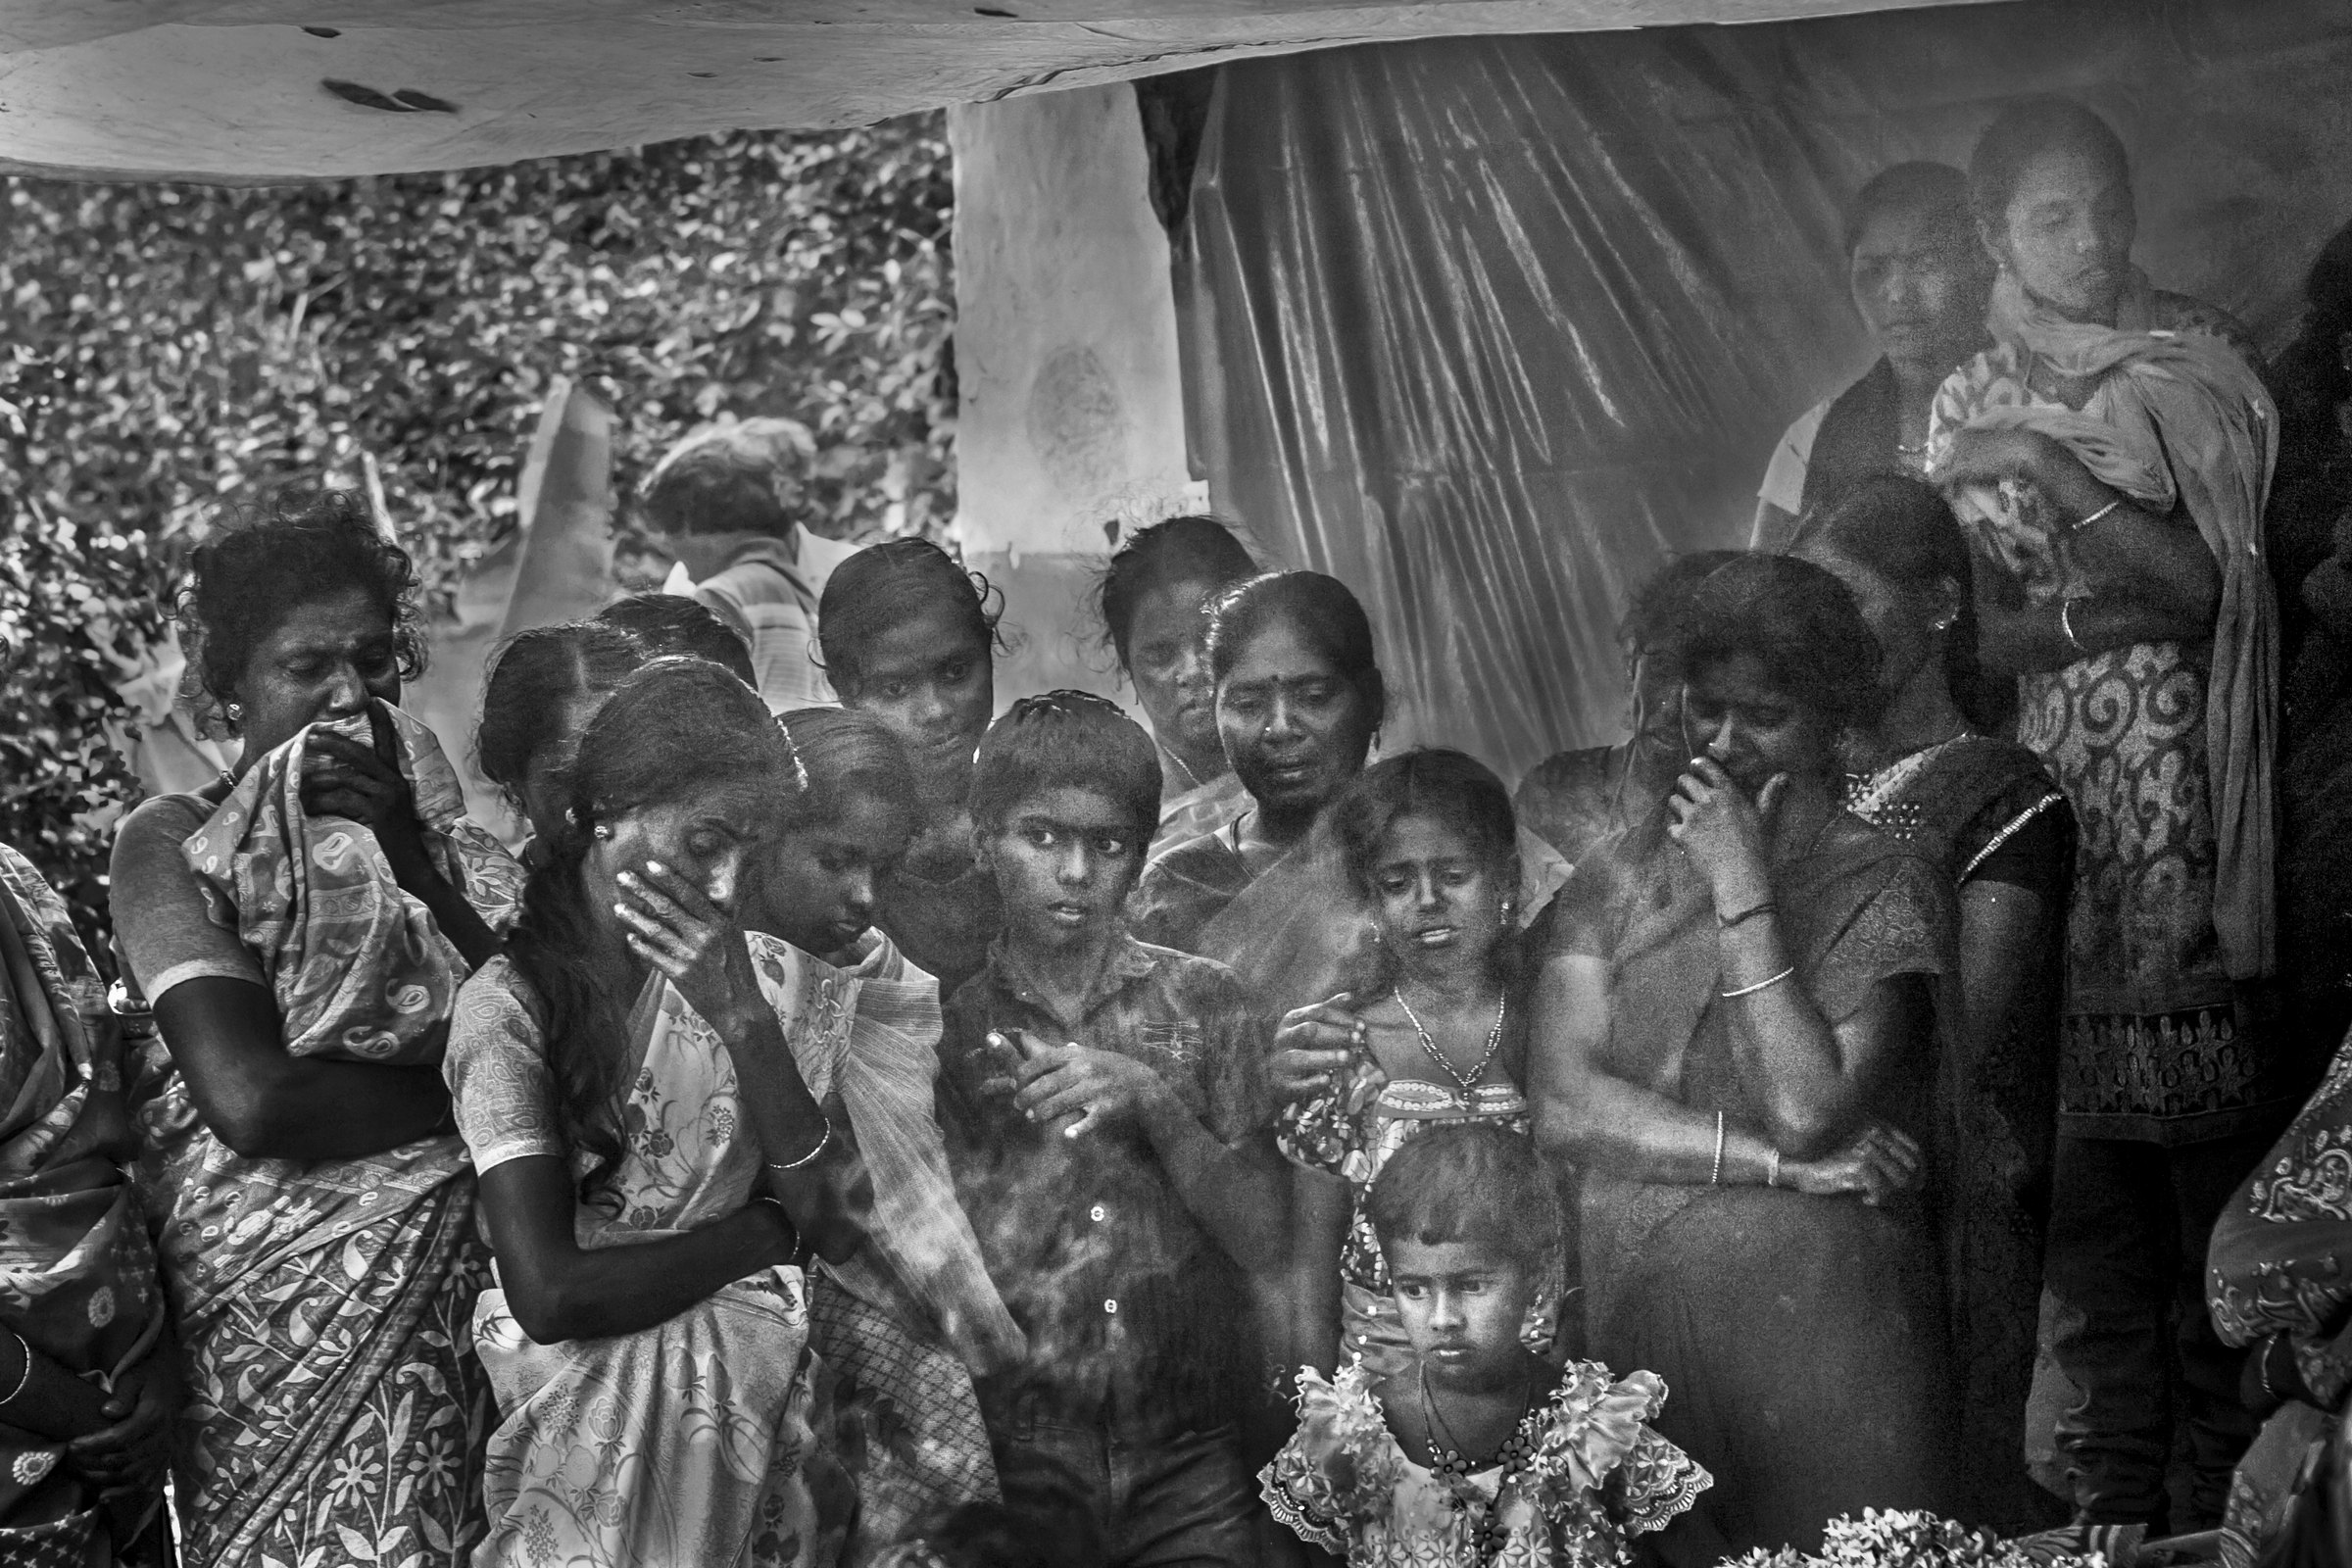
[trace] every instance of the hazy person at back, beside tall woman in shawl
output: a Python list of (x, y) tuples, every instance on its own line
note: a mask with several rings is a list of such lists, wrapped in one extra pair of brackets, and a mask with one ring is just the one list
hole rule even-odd
[(1856, 480), (1926, 470), (1936, 388), (1985, 346), (1992, 261), (1969, 221), (1969, 176), (1940, 162), (1872, 176), (1846, 216), (1846, 287), (1879, 360), (1780, 437), (1757, 491), (1759, 550), (1785, 548), (1804, 512)]

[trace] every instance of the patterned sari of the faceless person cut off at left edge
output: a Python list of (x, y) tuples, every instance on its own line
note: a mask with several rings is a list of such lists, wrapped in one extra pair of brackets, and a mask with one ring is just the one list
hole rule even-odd
[[(99, 1387), (165, 1328), (127, 1164), (113, 1018), (64, 900), (0, 844), (0, 1319)], [(0, 1422), (0, 1561), (103, 1568), (162, 1495), (106, 1507), (64, 1443)]]

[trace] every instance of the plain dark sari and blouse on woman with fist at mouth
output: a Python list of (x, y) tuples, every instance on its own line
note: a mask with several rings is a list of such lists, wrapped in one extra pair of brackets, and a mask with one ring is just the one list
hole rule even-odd
[[(1762, 1133), (1717, 997), (1715, 903), (1661, 816), (1578, 867), (1562, 903), (1559, 945), (1611, 966), (1609, 1072)], [(1825, 811), (1818, 832), (1783, 832), (1773, 903), (1832, 1025), (1896, 976), (1950, 1013), (1950, 884), (1877, 830)], [(1907, 1044), (1865, 1114), (1926, 1135), (1936, 1039)], [(1955, 1413), (1936, 1253), (1919, 1204), (1583, 1175), (1592, 1352), (1675, 1389), (1661, 1432), (1715, 1472), (1700, 1509), (1733, 1549), (1816, 1549), (1825, 1519), (1943, 1502)]]

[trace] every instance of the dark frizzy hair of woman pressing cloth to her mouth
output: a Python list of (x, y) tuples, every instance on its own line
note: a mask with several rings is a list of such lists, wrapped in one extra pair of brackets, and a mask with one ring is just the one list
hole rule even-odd
[(416, 630), (416, 564), (350, 491), (285, 491), (233, 508), (188, 557), (174, 602), (188, 675), (181, 686), (207, 729), (226, 726), (245, 665), (285, 618), (339, 592), (365, 592), (393, 630), (400, 679), (426, 668)]

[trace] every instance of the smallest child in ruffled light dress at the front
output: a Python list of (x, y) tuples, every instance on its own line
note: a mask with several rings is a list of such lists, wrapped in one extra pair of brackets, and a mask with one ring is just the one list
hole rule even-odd
[(1298, 1434), (1261, 1472), (1275, 1519), (1350, 1568), (1621, 1563), (1710, 1476), (1649, 1429), (1653, 1373), (1566, 1371), (1519, 1342), (1559, 1246), (1536, 1147), (1437, 1126), (1371, 1185), (1371, 1227), (1414, 1366), (1298, 1373)]

